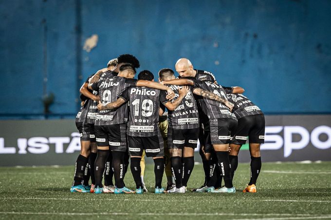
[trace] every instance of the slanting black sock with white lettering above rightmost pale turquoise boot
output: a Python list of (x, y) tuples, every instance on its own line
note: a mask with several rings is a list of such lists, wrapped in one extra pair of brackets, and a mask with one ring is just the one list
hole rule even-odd
[(229, 153), (227, 151), (218, 151), (216, 152), (217, 158), (219, 159), (220, 171), (224, 179), (224, 185), (227, 188), (232, 188), (232, 177), (231, 177), (231, 168), (229, 161)]

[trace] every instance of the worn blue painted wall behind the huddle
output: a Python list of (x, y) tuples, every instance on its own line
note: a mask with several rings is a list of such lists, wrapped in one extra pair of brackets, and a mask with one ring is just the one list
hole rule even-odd
[[(77, 3), (81, 44), (92, 34), (99, 37), (91, 52), (81, 53), (81, 77)], [(122, 53), (136, 55), (138, 70), (155, 76), (187, 57), (221, 85), (244, 87), (266, 113), (330, 113), (330, 11), (331, 2), (324, 0), (1, 1), (0, 114), (43, 112), (44, 25), (47, 92), (55, 94), (55, 114), (74, 114), (77, 85)]]

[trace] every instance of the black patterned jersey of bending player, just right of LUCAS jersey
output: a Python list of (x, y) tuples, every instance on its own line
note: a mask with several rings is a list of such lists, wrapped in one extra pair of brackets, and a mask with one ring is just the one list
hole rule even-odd
[[(194, 91), (196, 88), (201, 88), (218, 95), (222, 99), (227, 100), (225, 90), (221, 85), (216, 85), (208, 81), (193, 80), (193, 82), (194, 86), (192, 91)], [(216, 118), (232, 118), (237, 120), (236, 116), (230, 112), (230, 109), (221, 102), (210, 100), (202, 96), (197, 96), (197, 102), (199, 102), (203, 113), (208, 116), (209, 120)]]

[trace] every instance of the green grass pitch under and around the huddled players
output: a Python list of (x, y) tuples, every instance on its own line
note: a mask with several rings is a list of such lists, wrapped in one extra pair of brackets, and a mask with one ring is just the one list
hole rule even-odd
[[(152, 164), (143, 195), (70, 193), (73, 173), (74, 166), (0, 168), (0, 219), (331, 219), (331, 162), (263, 163), (255, 194), (241, 192), (249, 164), (239, 164), (235, 194), (155, 195)], [(195, 165), (188, 189), (202, 176)], [(134, 188), (130, 171), (125, 182)]]

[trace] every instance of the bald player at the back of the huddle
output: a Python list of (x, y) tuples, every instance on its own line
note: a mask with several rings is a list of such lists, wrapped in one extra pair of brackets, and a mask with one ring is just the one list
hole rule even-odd
[[(216, 78), (213, 73), (205, 70), (199, 70), (195, 69), (193, 67), (193, 64), (190, 60), (187, 58), (180, 58), (175, 65), (176, 71), (179, 74), (178, 78), (194, 78), (195, 80), (199, 81), (209, 81), (214, 84), (217, 84)], [(216, 166), (215, 162), (210, 161), (211, 160), (211, 151), (210, 148), (205, 148), (205, 140), (208, 139), (210, 128), (209, 128), (209, 119), (206, 115), (203, 114), (203, 111), (201, 109), (201, 106), (199, 102), (198, 109), (199, 109), (199, 119), (200, 119), (200, 135), (199, 135), (199, 141), (200, 141), (200, 156), (202, 158), (202, 164), (203, 164), (203, 171), (204, 171), (204, 183), (201, 187), (205, 186), (207, 182), (210, 179), (210, 174), (213, 173), (214, 167)], [(216, 157), (216, 156), (214, 156)], [(216, 158), (214, 158), (216, 159)], [(216, 159), (217, 161), (217, 159)], [(216, 169), (218, 171), (218, 169)], [(198, 189), (199, 189), (198, 188)], [(194, 189), (195, 191), (195, 189)]]

